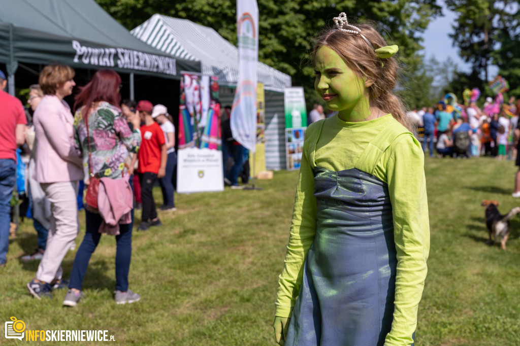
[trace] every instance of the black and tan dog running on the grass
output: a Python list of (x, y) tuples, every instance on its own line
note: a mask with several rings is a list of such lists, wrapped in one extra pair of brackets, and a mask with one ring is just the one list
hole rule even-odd
[[(514, 207), (508, 214), (502, 215), (498, 211), (499, 203), (494, 199), (484, 199), (481, 204), (486, 207), (486, 227), (489, 233), (488, 244), (495, 244), (500, 238), (500, 246), (505, 250), (505, 242), (508, 241), (510, 233), (510, 222), (513, 216), (520, 214), (520, 207)], [(491, 237), (493, 238), (491, 240)]]

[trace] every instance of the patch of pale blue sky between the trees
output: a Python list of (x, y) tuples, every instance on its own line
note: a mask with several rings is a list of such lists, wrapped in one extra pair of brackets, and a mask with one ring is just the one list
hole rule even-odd
[[(460, 71), (470, 72), (470, 65), (465, 63), (458, 53), (458, 48), (452, 46), (452, 40), (448, 36), (453, 29), (456, 15), (443, 6), (443, 17), (438, 17), (430, 22), (428, 28), (423, 34), (424, 41), (422, 45), (425, 47), (422, 54), (426, 60), (432, 56), (439, 62), (444, 62), (450, 57), (458, 66)], [(498, 74), (498, 68), (490, 66), (488, 70), (489, 77), (494, 78)]]

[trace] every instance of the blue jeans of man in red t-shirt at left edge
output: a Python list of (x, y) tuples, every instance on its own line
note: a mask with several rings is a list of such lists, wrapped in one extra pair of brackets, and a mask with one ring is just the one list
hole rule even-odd
[(0, 264), (7, 261), (12, 190), (16, 182), (16, 162), (0, 158)]

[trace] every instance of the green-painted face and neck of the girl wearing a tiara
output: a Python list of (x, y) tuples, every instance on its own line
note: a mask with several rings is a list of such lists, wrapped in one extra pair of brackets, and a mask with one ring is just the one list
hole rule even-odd
[(316, 52), (314, 88), (332, 111), (344, 121), (359, 122), (370, 115), (365, 81), (327, 46)]

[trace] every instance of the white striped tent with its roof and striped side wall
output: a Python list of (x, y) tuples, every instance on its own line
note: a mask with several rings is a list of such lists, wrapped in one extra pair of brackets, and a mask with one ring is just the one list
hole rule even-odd
[[(239, 72), (238, 49), (215, 30), (155, 14), (131, 33), (166, 54), (200, 61), (203, 75), (218, 76), (220, 102), (232, 104)], [(265, 164), (267, 169), (285, 169), (283, 89), (291, 87), (291, 76), (258, 62), (258, 82), (264, 83), (265, 89)]]

